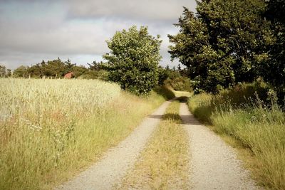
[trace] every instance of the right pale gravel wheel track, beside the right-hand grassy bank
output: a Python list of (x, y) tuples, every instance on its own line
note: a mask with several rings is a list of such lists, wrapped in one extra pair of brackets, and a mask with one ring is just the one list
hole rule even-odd
[(195, 120), (186, 103), (180, 117), (189, 135), (191, 189), (259, 189), (234, 149)]

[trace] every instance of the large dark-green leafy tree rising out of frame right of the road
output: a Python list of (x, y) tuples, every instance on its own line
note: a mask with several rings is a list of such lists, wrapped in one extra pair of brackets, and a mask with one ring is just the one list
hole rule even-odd
[(255, 61), (270, 43), (264, 1), (197, 1), (197, 16), (185, 8), (170, 36), (172, 59), (187, 66), (195, 92), (217, 93), (256, 77)]

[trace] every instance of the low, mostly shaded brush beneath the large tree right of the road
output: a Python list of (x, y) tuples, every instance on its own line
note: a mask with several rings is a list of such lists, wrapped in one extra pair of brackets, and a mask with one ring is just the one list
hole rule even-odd
[(244, 108), (257, 105), (257, 97), (266, 106), (270, 106), (267, 93), (269, 87), (262, 82), (242, 83), (231, 90), (222, 90), (218, 95), (202, 93), (190, 98), (190, 110), (199, 120), (212, 124), (210, 117), (219, 111)]

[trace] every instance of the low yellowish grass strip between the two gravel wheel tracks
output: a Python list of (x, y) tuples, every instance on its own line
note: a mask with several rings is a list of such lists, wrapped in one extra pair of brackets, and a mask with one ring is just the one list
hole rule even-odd
[(172, 102), (140, 159), (118, 189), (187, 189), (187, 136)]

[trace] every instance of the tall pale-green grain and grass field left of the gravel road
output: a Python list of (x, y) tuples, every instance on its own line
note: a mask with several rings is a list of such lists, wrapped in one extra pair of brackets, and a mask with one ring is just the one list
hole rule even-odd
[(51, 189), (120, 142), (163, 98), (100, 80), (0, 81), (0, 189)]

